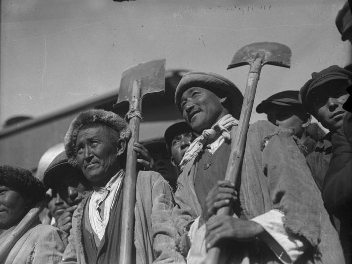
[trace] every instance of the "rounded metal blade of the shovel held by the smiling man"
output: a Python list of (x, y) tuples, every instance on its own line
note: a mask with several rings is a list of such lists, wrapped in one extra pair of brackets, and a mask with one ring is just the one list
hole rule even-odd
[(277, 42), (252, 43), (235, 53), (227, 69), (252, 65), (258, 58), (262, 59), (262, 65), (268, 64), (289, 68), (291, 65), (291, 50), (286, 45)]

